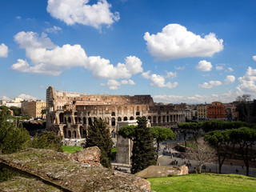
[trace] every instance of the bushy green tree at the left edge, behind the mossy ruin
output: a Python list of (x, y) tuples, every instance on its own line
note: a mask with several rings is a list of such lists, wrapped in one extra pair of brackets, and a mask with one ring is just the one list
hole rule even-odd
[(22, 125), (7, 122), (7, 110), (0, 111), (0, 154), (11, 154), (30, 146), (30, 136)]

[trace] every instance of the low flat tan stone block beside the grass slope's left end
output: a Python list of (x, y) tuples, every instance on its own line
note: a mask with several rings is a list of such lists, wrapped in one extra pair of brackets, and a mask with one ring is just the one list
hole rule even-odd
[(141, 178), (158, 178), (182, 174), (189, 174), (187, 166), (149, 166), (136, 175)]

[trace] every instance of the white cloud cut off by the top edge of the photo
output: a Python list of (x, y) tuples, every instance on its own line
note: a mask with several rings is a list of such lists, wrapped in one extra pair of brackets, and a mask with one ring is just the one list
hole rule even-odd
[(120, 17), (118, 12), (110, 11), (111, 5), (106, 0), (98, 0), (89, 5), (89, 0), (48, 0), (47, 11), (67, 25), (79, 23), (101, 29), (102, 25), (110, 26)]

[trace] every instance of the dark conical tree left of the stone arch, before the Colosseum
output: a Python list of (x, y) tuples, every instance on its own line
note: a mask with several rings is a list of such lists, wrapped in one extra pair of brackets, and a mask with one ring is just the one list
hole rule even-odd
[(86, 147), (98, 146), (101, 150), (101, 164), (107, 168), (111, 167), (112, 146), (110, 130), (102, 119), (94, 119), (88, 128)]

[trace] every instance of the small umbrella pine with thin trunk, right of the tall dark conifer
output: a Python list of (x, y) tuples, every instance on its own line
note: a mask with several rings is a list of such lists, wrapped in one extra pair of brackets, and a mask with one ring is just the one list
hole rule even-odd
[(160, 147), (160, 142), (166, 141), (167, 138), (170, 138), (170, 140), (173, 140), (174, 138), (176, 138), (176, 134), (174, 134), (174, 132), (172, 130), (170, 130), (169, 128), (162, 127), (162, 126), (151, 126), (150, 131), (151, 131), (153, 138), (155, 138), (156, 142), (157, 142), (157, 150), (156, 150), (157, 158), (156, 158), (156, 160), (158, 161), (158, 151), (159, 151), (159, 147)]

